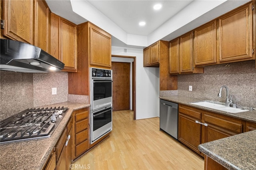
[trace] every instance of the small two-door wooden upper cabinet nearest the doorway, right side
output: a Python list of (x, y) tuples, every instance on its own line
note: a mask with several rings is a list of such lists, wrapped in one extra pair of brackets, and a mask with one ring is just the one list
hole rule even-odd
[(159, 41), (143, 49), (143, 66), (159, 67)]

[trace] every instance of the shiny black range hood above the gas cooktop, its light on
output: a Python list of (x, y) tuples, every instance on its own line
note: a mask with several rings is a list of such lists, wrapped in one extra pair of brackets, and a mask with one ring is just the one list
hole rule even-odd
[(34, 45), (1, 39), (0, 70), (22, 73), (60, 71), (64, 63)]

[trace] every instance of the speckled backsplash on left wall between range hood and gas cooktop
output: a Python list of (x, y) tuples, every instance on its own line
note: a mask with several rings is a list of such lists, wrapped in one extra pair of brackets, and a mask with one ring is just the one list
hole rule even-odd
[(0, 71), (0, 120), (33, 107), (33, 74)]

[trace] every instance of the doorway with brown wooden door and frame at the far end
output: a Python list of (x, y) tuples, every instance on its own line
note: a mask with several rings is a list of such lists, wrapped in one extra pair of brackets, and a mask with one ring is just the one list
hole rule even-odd
[(131, 109), (136, 120), (136, 57), (112, 55), (112, 70), (113, 111)]

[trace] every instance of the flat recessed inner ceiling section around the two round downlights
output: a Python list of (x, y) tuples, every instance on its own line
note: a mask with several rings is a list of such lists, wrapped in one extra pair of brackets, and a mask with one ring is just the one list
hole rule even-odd
[[(88, 0), (128, 34), (148, 36), (192, 0)], [(162, 4), (154, 10), (155, 4)], [(145, 21), (145, 26), (139, 26)]]

